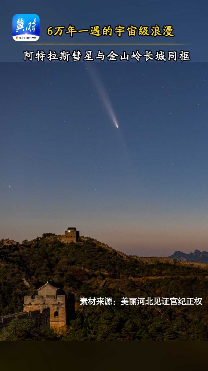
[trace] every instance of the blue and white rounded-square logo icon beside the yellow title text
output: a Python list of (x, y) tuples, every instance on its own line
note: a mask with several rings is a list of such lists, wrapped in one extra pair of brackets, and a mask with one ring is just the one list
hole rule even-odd
[(12, 37), (15, 41), (37, 41), (40, 37), (38, 15), (15, 14), (12, 18)]

